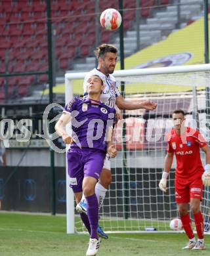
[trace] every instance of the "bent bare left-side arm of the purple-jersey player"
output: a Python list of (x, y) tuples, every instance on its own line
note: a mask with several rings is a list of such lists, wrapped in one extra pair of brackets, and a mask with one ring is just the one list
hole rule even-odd
[(58, 119), (56, 125), (54, 126), (56, 133), (58, 133), (58, 135), (62, 137), (62, 140), (66, 144), (70, 144), (72, 142), (72, 137), (70, 137), (70, 135), (66, 133), (66, 129), (65, 129), (67, 123), (69, 123), (71, 119), (72, 119), (72, 116), (70, 116), (69, 114), (63, 113), (62, 116), (60, 116), (60, 118)]

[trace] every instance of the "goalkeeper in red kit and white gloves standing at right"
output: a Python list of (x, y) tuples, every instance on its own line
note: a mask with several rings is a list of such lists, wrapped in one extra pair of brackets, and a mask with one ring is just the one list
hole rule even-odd
[[(175, 200), (180, 219), (189, 243), (182, 249), (205, 249), (203, 237), (203, 215), (200, 211), (202, 190), (210, 186), (210, 148), (199, 131), (184, 127), (184, 112), (173, 112), (174, 129), (167, 135), (168, 150), (165, 157), (162, 179), (159, 188), (167, 191), (167, 177), (173, 163), (173, 155), (177, 160), (175, 171)], [(200, 148), (205, 152), (205, 167), (201, 163)], [(204, 172), (203, 172), (204, 169)], [(194, 237), (192, 223), (188, 213), (188, 205), (194, 216), (198, 241)]]

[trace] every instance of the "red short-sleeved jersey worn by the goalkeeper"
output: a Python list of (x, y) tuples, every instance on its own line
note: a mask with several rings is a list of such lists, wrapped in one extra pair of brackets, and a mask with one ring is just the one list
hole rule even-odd
[(203, 165), (200, 148), (207, 142), (199, 131), (186, 127), (184, 135), (178, 135), (175, 129), (167, 135), (168, 152), (175, 153), (177, 160), (176, 178), (193, 181), (201, 177)]

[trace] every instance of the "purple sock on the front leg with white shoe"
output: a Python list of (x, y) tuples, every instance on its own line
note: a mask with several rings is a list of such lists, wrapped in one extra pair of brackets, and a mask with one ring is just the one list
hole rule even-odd
[(98, 200), (96, 194), (87, 196), (87, 216), (91, 225), (91, 238), (98, 239), (97, 228), (98, 228)]

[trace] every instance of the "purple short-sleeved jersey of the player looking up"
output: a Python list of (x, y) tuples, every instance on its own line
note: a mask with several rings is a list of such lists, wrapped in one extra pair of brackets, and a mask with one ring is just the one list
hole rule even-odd
[(108, 128), (115, 124), (115, 108), (89, 98), (74, 98), (64, 112), (73, 117), (72, 137), (75, 142), (72, 146), (106, 151)]

